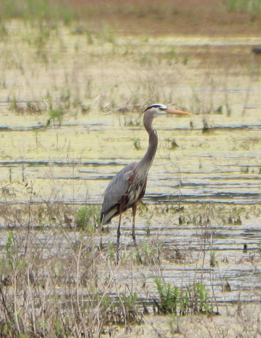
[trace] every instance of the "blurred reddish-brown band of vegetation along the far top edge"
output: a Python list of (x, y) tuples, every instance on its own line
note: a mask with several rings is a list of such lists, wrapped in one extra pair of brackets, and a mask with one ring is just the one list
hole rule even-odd
[(261, 14), (257, 10), (236, 9), (236, 4), (232, 10), (231, 4), (224, 0), (67, 1), (87, 25), (91, 23), (99, 29), (107, 23), (122, 34), (261, 34)]

